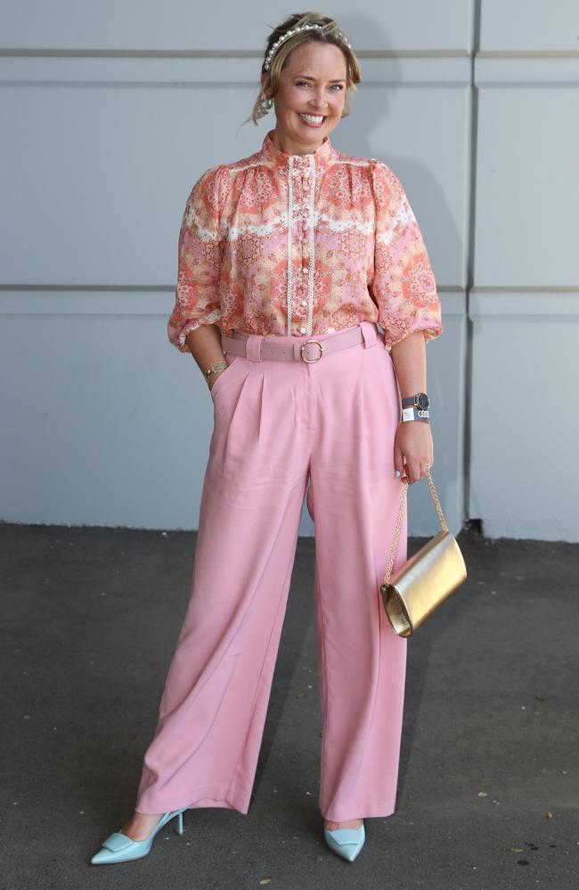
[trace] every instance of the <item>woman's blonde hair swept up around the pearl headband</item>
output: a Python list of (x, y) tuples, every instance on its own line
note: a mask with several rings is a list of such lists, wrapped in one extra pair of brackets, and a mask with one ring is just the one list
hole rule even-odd
[[(273, 44), (279, 40), (281, 36), (286, 34), (287, 31), (290, 31), (291, 28), (314, 24), (320, 25), (321, 27), (298, 31), (298, 33), (292, 34), (287, 40), (284, 40), (278, 51), (274, 53), (269, 69), (265, 70), (264, 66), (267, 55), (273, 48)], [(346, 101), (344, 103), (342, 117), (347, 117), (349, 115), (350, 103), (348, 90), (355, 92), (355, 85), (362, 81), (360, 63), (356, 59), (355, 53), (344, 42), (344, 37), (338, 28), (338, 23), (334, 19), (330, 19), (327, 15), (322, 15), (321, 12), (294, 12), (293, 15), (290, 15), (289, 19), (281, 22), (281, 25), (278, 25), (277, 28), (273, 28), (270, 36), (267, 38), (264, 61), (262, 62), (261, 67), (261, 73), (266, 74), (267, 79), (264, 85), (259, 85), (259, 95), (253, 106), (251, 115), (244, 123), (248, 123), (249, 120), (252, 120), (257, 126), (259, 118), (265, 117), (269, 110), (267, 101), (268, 99), (273, 100), (275, 98), (275, 94), (280, 85), (281, 70), (284, 68), (290, 53), (295, 50), (297, 46), (311, 43), (313, 41), (317, 41), (321, 44), (334, 44), (339, 47), (342, 53), (344, 53), (346, 58)]]

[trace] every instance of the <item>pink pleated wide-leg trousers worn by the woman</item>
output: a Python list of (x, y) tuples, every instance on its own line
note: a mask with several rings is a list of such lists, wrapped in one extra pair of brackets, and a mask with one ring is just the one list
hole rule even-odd
[[(305, 497), (315, 530), (320, 810), (332, 821), (394, 813), (406, 640), (390, 627), (379, 586), (402, 495), (399, 392), (382, 333), (360, 326), (363, 343), (312, 364), (260, 360), (257, 335), (253, 358), (226, 354), (211, 389), (191, 595), (144, 755), (140, 813), (248, 813)], [(394, 570), (406, 545), (404, 510)]]

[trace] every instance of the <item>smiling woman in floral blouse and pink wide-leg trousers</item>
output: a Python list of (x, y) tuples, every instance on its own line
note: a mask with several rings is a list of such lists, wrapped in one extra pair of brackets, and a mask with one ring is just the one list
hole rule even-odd
[[(248, 813), (305, 497), (324, 837), (352, 862), (363, 817), (394, 812), (406, 641), (379, 585), (397, 477), (433, 464), (426, 343), (443, 328), (401, 183), (330, 142), (360, 80), (334, 20), (292, 15), (269, 36), (252, 115), (274, 106), (274, 129), (187, 200), (167, 330), (215, 417), (192, 591), (135, 813), (94, 863), (146, 855), (186, 809)], [(404, 514), (395, 570), (405, 559)]]

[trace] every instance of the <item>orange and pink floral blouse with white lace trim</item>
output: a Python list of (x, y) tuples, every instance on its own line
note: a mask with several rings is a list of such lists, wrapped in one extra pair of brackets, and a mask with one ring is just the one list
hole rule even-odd
[(187, 198), (169, 340), (216, 324), (315, 336), (378, 322), (390, 349), (442, 331), (436, 282), (401, 182), (376, 158), (330, 139), (289, 155), (272, 139), (210, 167)]

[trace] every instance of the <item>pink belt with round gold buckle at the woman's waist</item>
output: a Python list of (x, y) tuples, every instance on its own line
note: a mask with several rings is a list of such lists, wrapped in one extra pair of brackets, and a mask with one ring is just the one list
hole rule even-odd
[(253, 361), (271, 359), (274, 361), (306, 361), (308, 364), (319, 361), (322, 355), (331, 355), (348, 346), (364, 343), (366, 349), (376, 344), (377, 338), (381, 338), (375, 325), (370, 321), (361, 321), (355, 328), (324, 336), (321, 340), (311, 337), (309, 340), (296, 337), (291, 341), (288, 338), (280, 338), (276, 343), (272, 336), (264, 334), (248, 334), (245, 331), (234, 330), (232, 336), (222, 332), (221, 345), (224, 352), (232, 352), (234, 355), (242, 355)]

